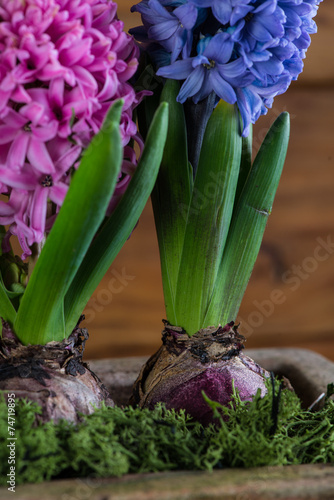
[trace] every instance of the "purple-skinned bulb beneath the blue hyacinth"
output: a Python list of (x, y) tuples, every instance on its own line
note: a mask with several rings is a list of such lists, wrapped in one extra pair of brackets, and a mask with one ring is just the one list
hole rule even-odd
[(233, 381), (242, 401), (251, 401), (258, 389), (264, 396), (269, 373), (242, 353), (244, 340), (233, 322), (192, 337), (166, 322), (162, 346), (143, 366), (131, 403), (153, 409), (162, 402), (208, 425), (213, 411), (202, 391), (223, 406), (231, 402)]

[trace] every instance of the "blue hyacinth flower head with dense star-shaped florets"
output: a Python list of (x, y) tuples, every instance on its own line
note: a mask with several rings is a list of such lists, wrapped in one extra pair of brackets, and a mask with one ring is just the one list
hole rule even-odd
[[(161, 17), (153, 15), (153, 1), (160, 4)], [(303, 59), (310, 45), (310, 35), (317, 30), (313, 17), (322, 0), (143, 0), (134, 10), (142, 15), (146, 40), (145, 49), (173, 53), (170, 64), (157, 70), (159, 76), (183, 81), (178, 101), (191, 98), (195, 103), (214, 92), (239, 107), (243, 130), (265, 114), (276, 95), (284, 93), (303, 70)], [(169, 33), (168, 44), (164, 32), (163, 9), (173, 16), (176, 5), (195, 7), (196, 24), (187, 34), (192, 46), (183, 46), (175, 59), (176, 37)], [(200, 15), (199, 15), (200, 12)], [(189, 31), (189, 29), (188, 29)], [(134, 30), (136, 33), (136, 30)], [(205, 49), (203, 50), (203, 47)], [(226, 54), (229, 54), (227, 60)], [(161, 57), (161, 61), (167, 58)]]

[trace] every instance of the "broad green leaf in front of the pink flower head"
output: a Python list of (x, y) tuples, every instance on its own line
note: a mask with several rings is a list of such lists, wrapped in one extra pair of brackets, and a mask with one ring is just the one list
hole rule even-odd
[(14, 324), (24, 344), (65, 336), (66, 291), (104, 219), (120, 172), (122, 105), (123, 101), (114, 104), (85, 152), (32, 272)]

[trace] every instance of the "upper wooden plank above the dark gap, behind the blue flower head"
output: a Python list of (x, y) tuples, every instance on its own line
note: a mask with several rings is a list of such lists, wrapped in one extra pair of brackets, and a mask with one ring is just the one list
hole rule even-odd
[[(118, 2), (118, 16), (128, 30), (141, 24), (140, 15), (131, 13), (132, 5), (139, 3), (134, 0)], [(312, 43), (307, 52), (305, 69), (299, 76), (298, 84), (314, 85), (328, 84), (334, 81), (333, 47), (334, 47), (334, 2), (325, 1), (320, 4), (316, 16), (318, 33), (312, 35)]]

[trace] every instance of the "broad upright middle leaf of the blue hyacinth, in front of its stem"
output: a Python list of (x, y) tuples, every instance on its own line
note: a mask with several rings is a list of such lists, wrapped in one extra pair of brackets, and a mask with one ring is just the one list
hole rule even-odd
[(241, 146), (238, 111), (220, 101), (203, 139), (175, 297), (177, 325), (190, 335), (206, 326), (203, 320), (232, 216)]

